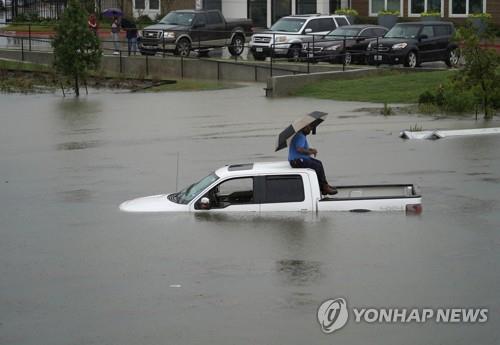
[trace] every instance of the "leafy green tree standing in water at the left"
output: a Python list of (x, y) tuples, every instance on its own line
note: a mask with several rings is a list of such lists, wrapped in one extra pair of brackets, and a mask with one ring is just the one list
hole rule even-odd
[(70, 0), (52, 41), (56, 71), (73, 80), (75, 95), (80, 95), (80, 81), (88, 71), (99, 67), (102, 50), (99, 38), (87, 27), (87, 13), (78, 0)]

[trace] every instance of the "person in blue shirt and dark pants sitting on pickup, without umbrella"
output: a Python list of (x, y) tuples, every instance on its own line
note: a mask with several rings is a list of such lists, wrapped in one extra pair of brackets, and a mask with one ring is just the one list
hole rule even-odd
[(311, 126), (308, 125), (292, 138), (290, 148), (288, 150), (288, 161), (290, 162), (292, 168), (314, 169), (314, 171), (316, 171), (316, 175), (318, 176), (321, 194), (337, 194), (337, 190), (330, 186), (326, 181), (323, 163), (321, 163), (319, 159), (311, 157), (313, 155), (316, 157), (318, 154), (318, 150), (309, 147), (309, 143), (307, 142), (306, 136), (311, 133), (311, 130)]

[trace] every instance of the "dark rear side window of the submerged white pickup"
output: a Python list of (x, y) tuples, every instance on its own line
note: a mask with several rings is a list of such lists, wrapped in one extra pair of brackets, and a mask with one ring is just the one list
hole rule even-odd
[(304, 183), (300, 175), (266, 176), (264, 203), (304, 201)]

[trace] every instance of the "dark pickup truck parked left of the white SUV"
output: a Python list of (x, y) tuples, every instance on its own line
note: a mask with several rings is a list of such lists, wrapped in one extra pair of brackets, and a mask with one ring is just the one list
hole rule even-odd
[(189, 56), (192, 50), (204, 53), (211, 48), (228, 46), (233, 56), (243, 52), (251, 35), (250, 19), (226, 19), (218, 10), (178, 10), (157, 24), (145, 27), (139, 35), (143, 55), (173, 52)]

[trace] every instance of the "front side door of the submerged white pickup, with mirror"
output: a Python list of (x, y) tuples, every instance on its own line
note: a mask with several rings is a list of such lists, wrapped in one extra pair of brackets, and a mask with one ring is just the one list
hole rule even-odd
[[(194, 203), (195, 211), (207, 212), (259, 212), (255, 197), (254, 177), (230, 178), (217, 184)], [(201, 199), (208, 198), (204, 206)]]

